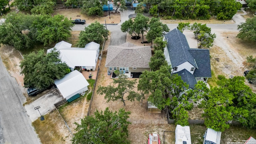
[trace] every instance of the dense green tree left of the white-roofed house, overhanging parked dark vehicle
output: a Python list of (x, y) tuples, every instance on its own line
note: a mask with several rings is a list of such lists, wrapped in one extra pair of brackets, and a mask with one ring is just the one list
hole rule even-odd
[(65, 76), (70, 69), (59, 59), (60, 52), (56, 49), (48, 54), (44, 50), (31, 52), (20, 62), (21, 74), (24, 74), (25, 87), (46, 88), (54, 84), (54, 79)]

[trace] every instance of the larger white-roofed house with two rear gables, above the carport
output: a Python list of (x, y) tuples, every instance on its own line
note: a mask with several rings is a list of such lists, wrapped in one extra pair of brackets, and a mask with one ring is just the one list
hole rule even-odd
[[(60, 59), (74, 70), (75, 66), (81, 66), (83, 69), (95, 70), (100, 52), (100, 44), (90, 42), (84, 48), (73, 48), (72, 44), (61, 41), (54, 48), (60, 51)], [(47, 50), (51, 52), (53, 48)]]

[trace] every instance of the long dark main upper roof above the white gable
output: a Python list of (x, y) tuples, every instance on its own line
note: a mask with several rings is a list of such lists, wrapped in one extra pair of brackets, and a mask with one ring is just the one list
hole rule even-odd
[(165, 40), (167, 41), (167, 49), (170, 56), (170, 61), (172, 64), (172, 68), (188, 61), (194, 67), (196, 66), (196, 62), (193, 56), (188, 52), (189, 46), (186, 39), (186, 36), (180, 32), (177, 28), (168, 32), (165, 35)]

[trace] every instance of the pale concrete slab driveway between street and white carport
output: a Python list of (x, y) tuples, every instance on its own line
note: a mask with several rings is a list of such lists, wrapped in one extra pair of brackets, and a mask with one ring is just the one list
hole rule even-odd
[(34, 122), (37, 118), (40, 117), (38, 110), (34, 108), (36, 106), (40, 106), (39, 111), (42, 115), (47, 114), (51, 110), (54, 109), (54, 104), (62, 100), (63, 97), (58, 91), (58, 89), (51, 90), (41, 98), (38, 98), (31, 104), (25, 105), (26, 112), (32, 122)]

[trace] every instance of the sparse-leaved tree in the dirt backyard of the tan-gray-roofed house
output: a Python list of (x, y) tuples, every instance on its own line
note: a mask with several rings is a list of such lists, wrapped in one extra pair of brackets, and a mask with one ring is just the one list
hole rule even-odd
[(125, 74), (120, 74), (118, 78), (113, 79), (112, 84), (108, 86), (99, 86), (97, 93), (105, 95), (104, 98), (109, 102), (121, 99), (125, 106), (125, 97), (129, 101), (143, 100), (141, 94), (134, 91), (136, 84), (135, 80), (128, 80)]

